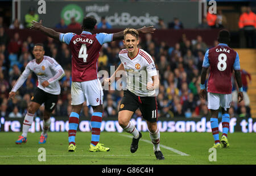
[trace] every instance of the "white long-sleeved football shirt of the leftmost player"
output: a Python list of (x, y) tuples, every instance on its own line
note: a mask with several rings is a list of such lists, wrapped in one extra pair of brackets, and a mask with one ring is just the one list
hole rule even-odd
[[(38, 76), (39, 89), (53, 95), (60, 94), (59, 79), (61, 79), (65, 73), (63, 68), (54, 60), (54, 58), (48, 56), (44, 56), (40, 64), (36, 63), (35, 59), (28, 62), (25, 70), (18, 81), (16, 81), (11, 91), (16, 92), (19, 87), (23, 85), (31, 72), (34, 72), (36, 76)], [(43, 87), (41, 84), (44, 81), (48, 81), (49, 86)]]

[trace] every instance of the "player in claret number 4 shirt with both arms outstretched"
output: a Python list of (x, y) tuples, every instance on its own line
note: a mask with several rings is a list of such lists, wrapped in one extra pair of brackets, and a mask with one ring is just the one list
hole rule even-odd
[[(42, 26), (42, 21), (33, 21), (32, 29), (42, 31), (53, 39), (60, 40), (69, 45), (72, 53), (72, 112), (69, 116), (68, 151), (74, 152), (77, 148), (75, 143), (76, 131), (79, 124), (79, 114), (82, 104), (86, 100), (87, 105), (93, 108), (90, 124), (92, 137), (89, 146), (90, 152), (106, 152), (110, 149), (100, 144), (100, 128), (102, 121), (103, 91), (98, 73), (98, 56), (104, 43), (123, 39), (123, 31), (117, 33), (96, 33), (93, 30), (97, 20), (87, 16), (82, 22), (82, 33), (60, 33)], [(153, 33), (155, 28), (143, 27), (137, 30), (140, 33)]]

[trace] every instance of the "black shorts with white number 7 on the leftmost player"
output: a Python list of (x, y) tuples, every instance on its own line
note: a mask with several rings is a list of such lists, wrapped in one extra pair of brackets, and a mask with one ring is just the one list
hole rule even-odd
[(31, 101), (41, 105), (44, 103), (45, 110), (52, 112), (56, 107), (58, 95), (49, 94), (36, 87), (34, 97), (31, 98)]

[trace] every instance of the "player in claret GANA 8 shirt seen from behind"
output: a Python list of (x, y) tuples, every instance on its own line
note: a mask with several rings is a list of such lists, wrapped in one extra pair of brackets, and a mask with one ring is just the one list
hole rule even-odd
[[(229, 147), (229, 108), (232, 103), (232, 73), (234, 70), (238, 85), (238, 102), (243, 100), (242, 79), (240, 73), (240, 60), (238, 53), (228, 46), (230, 33), (221, 30), (218, 33), (219, 44), (216, 47), (208, 49), (203, 61), (201, 72), (201, 90), (200, 97), (205, 99), (206, 92), (208, 97), (208, 109), (211, 112), (210, 127), (214, 138), (213, 148)], [(210, 74), (205, 89), (205, 79), (207, 70), (210, 68)], [(221, 143), (218, 133), (218, 109), (222, 110), (222, 137)]]

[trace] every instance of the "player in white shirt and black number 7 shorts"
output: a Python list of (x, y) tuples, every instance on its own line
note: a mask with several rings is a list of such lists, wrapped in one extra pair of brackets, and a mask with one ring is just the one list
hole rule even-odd
[(13, 89), (9, 93), (8, 99), (13, 99), (16, 95), (16, 91), (26, 81), (31, 72), (34, 72), (38, 76), (38, 87), (36, 88), (34, 97), (31, 98), (31, 102), (27, 108), (27, 114), (23, 121), (22, 135), (16, 140), (16, 144), (22, 144), (27, 142), (27, 132), (30, 128), (35, 112), (44, 103), (43, 112), (43, 131), (40, 136), (39, 144), (46, 143), (47, 131), (51, 124), (50, 115), (55, 109), (58, 95), (60, 94), (59, 79), (61, 79), (65, 73), (63, 68), (51, 57), (44, 56), (43, 44), (35, 44), (33, 49), (33, 55), (35, 59), (28, 62), (22, 75), (16, 81)]

